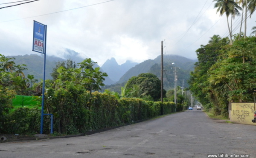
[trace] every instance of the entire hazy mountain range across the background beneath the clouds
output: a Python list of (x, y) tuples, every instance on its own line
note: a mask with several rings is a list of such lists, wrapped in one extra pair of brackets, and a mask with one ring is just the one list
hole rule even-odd
[[(44, 55), (43, 54), (31, 54), (31, 55), (19, 55), (19, 56), (6, 56), (14, 57), (16, 65), (25, 64), (28, 70), (24, 73), (34, 75), (35, 79), (43, 79), (44, 72)], [(76, 63), (83, 61), (84, 59), (79, 56), (76, 51), (65, 49), (64, 58), (57, 56), (47, 56), (46, 57), (46, 79), (52, 79), (50, 73), (52, 68), (55, 67), (56, 62), (65, 61), (71, 59)], [(178, 85), (183, 84), (183, 79), (189, 79), (190, 71), (193, 71), (194, 63), (196, 60), (188, 59), (183, 56), (177, 55), (164, 55), (163, 56), (163, 65), (164, 65), (164, 87), (169, 89), (173, 86), (174, 82), (174, 69), (177, 68), (176, 72), (179, 76)], [(127, 60), (124, 64), (118, 65), (115, 58), (108, 59), (101, 67), (102, 72), (106, 72), (108, 77), (105, 78), (104, 84), (106, 87), (111, 89), (111, 85), (122, 84), (128, 81), (132, 76), (137, 76), (140, 73), (153, 73), (160, 78), (161, 70), (161, 56), (157, 56), (155, 59), (148, 59), (141, 63), (136, 63)], [(95, 65), (99, 67), (99, 65)]]

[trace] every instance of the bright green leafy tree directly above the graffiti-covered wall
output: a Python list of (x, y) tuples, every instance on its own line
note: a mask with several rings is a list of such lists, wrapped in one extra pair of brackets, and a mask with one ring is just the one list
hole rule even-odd
[[(218, 60), (218, 62), (210, 68), (209, 81), (213, 85), (226, 85), (229, 91), (228, 99), (230, 101), (252, 101), (252, 89), (256, 87), (255, 52), (256, 37), (236, 40), (233, 45), (224, 52), (226, 54), (225, 58)], [(222, 91), (224, 90), (222, 89)]]

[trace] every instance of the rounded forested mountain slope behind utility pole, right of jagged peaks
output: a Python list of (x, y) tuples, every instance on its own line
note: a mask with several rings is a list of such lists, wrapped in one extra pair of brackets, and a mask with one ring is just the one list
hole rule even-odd
[[(188, 59), (183, 56), (178, 55), (164, 55), (163, 56), (163, 65), (164, 65), (164, 76), (163, 84), (164, 87), (170, 88), (174, 87), (174, 69), (176, 67), (176, 72), (178, 76), (178, 85), (183, 84), (185, 87), (187, 85), (187, 80), (190, 76), (190, 71), (193, 71), (194, 64), (196, 60)], [(174, 63), (174, 64), (172, 64)], [(127, 71), (120, 79), (118, 84), (127, 82), (132, 76), (138, 76), (140, 73), (153, 73), (160, 78), (161, 71), (161, 55), (157, 56), (154, 60), (148, 59), (138, 65), (135, 65), (129, 71)]]

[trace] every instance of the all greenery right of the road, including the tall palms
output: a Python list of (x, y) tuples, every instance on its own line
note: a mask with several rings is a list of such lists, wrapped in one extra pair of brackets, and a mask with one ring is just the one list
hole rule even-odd
[[(227, 17), (229, 37), (214, 35), (207, 45), (196, 50), (198, 62), (189, 79), (189, 90), (206, 111), (227, 117), (231, 102), (255, 99), (256, 37), (247, 36), (246, 24), (256, 10), (256, 0), (214, 2), (217, 13)], [(233, 34), (233, 19), (238, 16), (241, 16), (239, 33)], [(255, 27), (252, 30), (255, 35)]]

